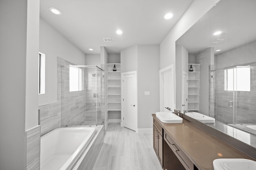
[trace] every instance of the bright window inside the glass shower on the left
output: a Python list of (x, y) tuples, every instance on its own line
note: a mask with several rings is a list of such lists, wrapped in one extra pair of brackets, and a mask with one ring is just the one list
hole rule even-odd
[(69, 67), (69, 91), (82, 91), (82, 69)]

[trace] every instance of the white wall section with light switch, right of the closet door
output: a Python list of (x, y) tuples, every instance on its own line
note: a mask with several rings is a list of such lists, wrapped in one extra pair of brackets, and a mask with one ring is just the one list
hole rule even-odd
[(137, 75), (138, 128), (152, 128), (152, 113), (160, 111), (159, 45), (138, 45)]

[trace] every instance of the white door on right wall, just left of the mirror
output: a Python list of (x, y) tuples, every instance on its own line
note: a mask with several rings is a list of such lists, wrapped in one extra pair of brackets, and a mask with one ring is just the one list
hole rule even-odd
[(170, 65), (159, 71), (160, 73), (160, 111), (174, 111), (174, 69)]

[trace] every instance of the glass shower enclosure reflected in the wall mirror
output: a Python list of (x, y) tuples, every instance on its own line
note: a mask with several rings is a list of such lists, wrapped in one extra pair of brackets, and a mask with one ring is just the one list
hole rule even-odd
[(211, 71), (210, 86), (210, 115), (216, 121), (256, 133), (256, 128), (251, 128), (256, 125), (256, 67)]

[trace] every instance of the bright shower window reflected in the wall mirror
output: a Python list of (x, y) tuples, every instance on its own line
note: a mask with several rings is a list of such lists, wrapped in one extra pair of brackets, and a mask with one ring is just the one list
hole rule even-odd
[(250, 67), (224, 70), (225, 91), (250, 91)]

